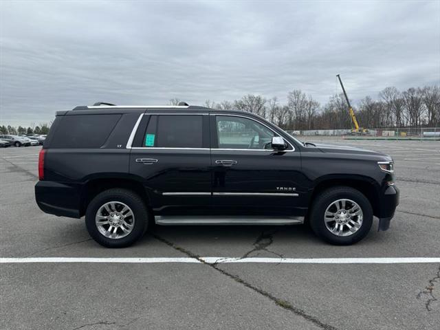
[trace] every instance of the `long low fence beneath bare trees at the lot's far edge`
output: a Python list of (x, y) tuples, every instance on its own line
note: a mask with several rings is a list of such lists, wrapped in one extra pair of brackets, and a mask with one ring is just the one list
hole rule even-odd
[(392, 129), (368, 129), (364, 132), (352, 132), (351, 129), (312, 129), (307, 131), (287, 131), (296, 136), (333, 136), (362, 139), (384, 140), (440, 140), (440, 127), (404, 127)]

